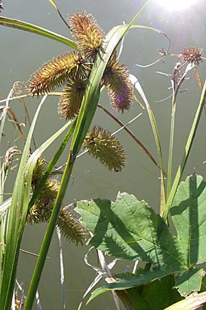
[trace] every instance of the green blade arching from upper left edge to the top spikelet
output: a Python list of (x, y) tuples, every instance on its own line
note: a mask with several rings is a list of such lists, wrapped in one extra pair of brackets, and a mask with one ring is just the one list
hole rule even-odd
[(19, 21), (18, 19), (9, 19), (7, 17), (0, 17), (0, 25), (4, 25), (5, 27), (10, 27), (10, 28), (16, 28), (19, 30), (24, 30), (27, 32), (32, 32), (40, 36), (53, 39), (60, 43), (69, 45), (70, 48), (73, 48), (73, 50), (78, 50), (77, 44), (75, 41), (68, 39), (66, 37), (63, 37), (60, 34), (56, 34), (55, 32), (52, 32), (50, 30), (41, 28), (37, 25), (32, 25), (32, 23), (26, 23), (25, 21)]

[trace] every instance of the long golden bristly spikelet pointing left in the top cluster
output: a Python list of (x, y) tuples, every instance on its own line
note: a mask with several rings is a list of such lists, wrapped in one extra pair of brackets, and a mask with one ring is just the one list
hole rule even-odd
[(84, 64), (80, 54), (66, 52), (48, 61), (42, 68), (34, 72), (29, 81), (29, 92), (33, 95), (51, 92), (54, 88), (67, 83), (71, 76), (87, 70), (89, 70), (89, 66)]

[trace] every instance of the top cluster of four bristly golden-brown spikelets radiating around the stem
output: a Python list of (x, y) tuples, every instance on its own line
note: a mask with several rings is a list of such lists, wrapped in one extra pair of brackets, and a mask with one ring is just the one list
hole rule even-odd
[[(104, 31), (91, 14), (77, 12), (69, 18), (69, 27), (77, 40), (78, 52), (66, 52), (48, 61), (34, 72), (29, 81), (29, 91), (33, 95), (45, 94), (66, 85), (58, 104), (60, 116), (66, 119), (74, 118), (80, 110), (93, 61), (104, 41)], [(102, 85), (107, 87), (115, 110), (129, 110), (133, 99), (133, 85), (128, 69), (119, 62), (116, 54), (106, 67)]]

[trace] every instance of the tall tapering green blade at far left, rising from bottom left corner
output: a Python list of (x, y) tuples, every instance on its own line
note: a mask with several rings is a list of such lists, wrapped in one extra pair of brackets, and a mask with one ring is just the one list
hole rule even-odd
[(38, 105), (36, 114), (32, 121), (32, 126), (30, 127), (30, 132), (27, 136), (27, 141), (23, 150), (21, 157), (21, 163), (19, 165), (19, 171), (16, 176), (16, 182), (14, 185), (14, 192), (12, 195), (12, 203), (10, 207), (10, 217), (8, 222), (8, 233), (5, 239), (5, 260), (3, 264), (3, 276), (1, 282), (1, 291), (0, 291), (0, 304), (2, 310), (10, 309), (10, 304), (12, 301), (12, 295), (14, 291), (14, 283), (16, 278), (16, 263), (18, 254), (16, 254), (17, 249), (17, 240), (19, 237), (19, 223), (21, 221), (22, 209), (23, 209), (23, 192), (24, 192), (24, 183), (23, 175), (25, 173), (25, 165), (27, 163), (27, 158), (30, 154), (30, 143), (32, 140), (32, 134), (38, 117), (38, 113), (41, 110), (41, 107), (47, 98), (47, 95), (43, 96), (43, 99)]

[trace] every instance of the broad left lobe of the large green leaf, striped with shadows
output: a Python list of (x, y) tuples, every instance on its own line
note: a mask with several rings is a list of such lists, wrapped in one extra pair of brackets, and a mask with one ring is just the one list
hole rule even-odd
[(187, 268), (178, 241), (144, 200), (119, 193), (115, 203), (101, 199), (82, 201), (76, 211), (95, 235), (90, 244), (106, 254), (151, 262), (161, 271)]

